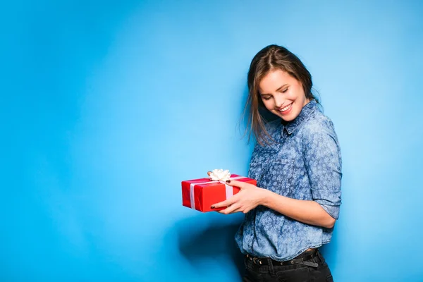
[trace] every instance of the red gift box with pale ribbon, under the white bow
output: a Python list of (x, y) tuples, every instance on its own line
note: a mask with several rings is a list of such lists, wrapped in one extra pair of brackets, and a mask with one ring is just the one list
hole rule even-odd
[[(257, 185), (256, 180), (237, 174), (232, 174), (229, 179)], [(210, 178), (182, 181), (182, 204), (200, 212), (220, 211), (226, 207), (212, 209), (212, 204), (223, 202), (238, 192), (240, 188), (212, 181)]]

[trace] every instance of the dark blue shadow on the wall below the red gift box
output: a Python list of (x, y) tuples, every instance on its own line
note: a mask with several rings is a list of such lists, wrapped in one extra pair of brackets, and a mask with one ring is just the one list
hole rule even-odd
[(219, 221), (204, 220), (199, 216), (184, 219), (176, 223), (178, 236), (178, 248), (180, 254), (187, 259), (191, 266), (200, 269), (204, 260), (216, 259), (225, 268), (235, 268), (240, 276), (244, 274), (243, 255), (235, 243), (235, 233), (238, 231), (242, 217), (225, 216), (223, 214), (210, 214), (210, 217), (218, 217)]

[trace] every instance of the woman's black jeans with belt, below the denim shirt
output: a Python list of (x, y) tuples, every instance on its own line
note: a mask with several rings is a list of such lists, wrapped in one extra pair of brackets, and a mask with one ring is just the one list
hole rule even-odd
[(269, 261), (269, 265), (260, 266), (247, 258), (244, 264), (244, 282), (333, 282), (329, 266), (319, 250), (316, 257), (293, 265), (276, 266)]

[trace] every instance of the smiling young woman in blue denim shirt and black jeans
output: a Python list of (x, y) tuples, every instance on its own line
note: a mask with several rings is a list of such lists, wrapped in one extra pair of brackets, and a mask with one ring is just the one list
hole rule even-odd
[[(250, 133), (257, 145), (248, 176), (219, 212), (245, 213), (235, 240), (243, 281), (333, 281), (318, 248), (329, 243), (341, 205), (341, 151), (332, 121), (312, 94), (312, 77), (286, 48), (270, 45), (248, 72)], [(266, 122), (262, 110), (278, 118)]]

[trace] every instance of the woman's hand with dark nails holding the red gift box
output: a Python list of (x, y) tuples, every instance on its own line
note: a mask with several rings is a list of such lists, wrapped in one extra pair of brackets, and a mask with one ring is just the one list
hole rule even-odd
[(258, 188), (256, 185), (237, 180), (228, 180), (226, 184), (239, 187), (241, 190), (228, 200), (212, 205), (212, 209), (227, 207), (221, 211), (216, 211), (221, 214), (233, 214), (235, 212), (243, 212), (246, 214), (261, 204), (266, 192), (268, 192), (266, 189)]

